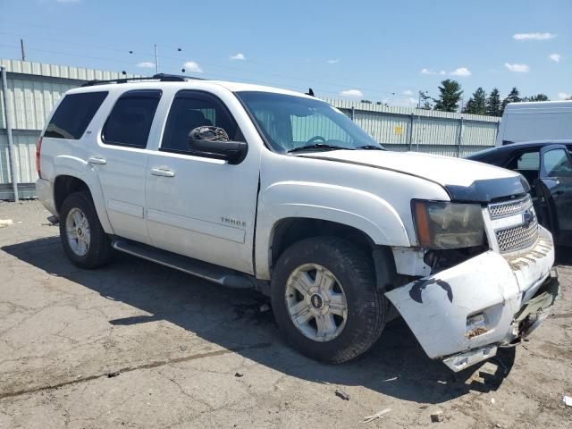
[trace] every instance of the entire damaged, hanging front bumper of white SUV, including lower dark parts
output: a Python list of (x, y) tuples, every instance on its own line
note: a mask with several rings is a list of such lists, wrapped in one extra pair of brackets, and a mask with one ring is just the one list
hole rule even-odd
[(427, 355), (460, 371), (536, 329), (558, 296), (551, 233), (513, 257), (492, 250), (386, 292)]

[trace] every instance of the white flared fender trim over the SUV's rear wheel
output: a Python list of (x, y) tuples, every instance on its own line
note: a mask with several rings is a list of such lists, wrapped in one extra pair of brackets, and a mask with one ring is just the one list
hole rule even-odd
[(101, 226), (106, 233), (113, 234), (114, 230), (111, 227), (111, 223), (109, 222), (107, 211), (105, 209), (103, 190), (101, 189), (101, 184), (99, 183), (97, 172), (93, 165), (77, 156), (55, 156), (54, 171), (57, 172), (55, 179), (57, 179), (57, 176), (71, 176), (80, 179), (80, 181), (84, 181), (88, 185), (89, 192), (91, 192), (91, 198), (93, 199), (93, 204), (96, 207), (99, 223), (101, 223)]

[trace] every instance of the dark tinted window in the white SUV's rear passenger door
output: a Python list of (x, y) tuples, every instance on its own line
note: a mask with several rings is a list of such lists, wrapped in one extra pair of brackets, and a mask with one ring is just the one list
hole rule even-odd
[(119, 97), (103, 130), (108, 145), (147, 147), (151, 124), (161, 91), (144, 89), (129, 91)]

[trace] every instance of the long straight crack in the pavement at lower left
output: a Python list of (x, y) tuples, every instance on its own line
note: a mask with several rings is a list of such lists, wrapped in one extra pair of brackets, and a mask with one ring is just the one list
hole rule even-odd
[[(272, 345), (273, 345), (272, 341), (260, 342), (257, 344), (251, 344), (248, 346), (239, 346), (239, 347), (235, 347), (232, 349), (208, 351), (206, 353), (198, 353), (196, 355), (190, 355), (190, 356), (185, 356), (185, 357), (175, 357), (173, 359), (156, 360), (154, 362), (150, 362), (147, 364), (141, 364), (138, 366), (124, 366), (121, 369), (114, 371), (114, 373), (118, 373), (118, 374), (130, 373), (131, 371), (137, 371), (139, 369), (150, 369), (150, 368), (156, 368), (159, 366), (165, 366), (165, 365), (169, 365), (169, 364), (178, 364), (180, 362), (187, 362), (189, 360), (202, 359), (205, 357), (222, 356), (222, 355), (227, 355), (230, 353), (237, 353), (237, 352), (240, 352), (243, 350), (265, 349), (265, 348), (270, 347)], [(4, 393), (0, 393), (0, 400), (4, 400), (5, 398), (14, 398), (16, 396), (25, 395), (27, 393), (36, 393), (38, 391), (48, 391), (48, 390), (52, 390), (52, 389), (59, 389), (61, 387), (69, 386), (71, 384), (90, 382), (92, 380), (97, 380), (98, 378), (107, 377), (108, 374), (110, 374), (110, 373), (88, 375), (85, 377), (77, 378), (75, 380), (69, 380), (67, 382), (48, 384), (46, 386), (39, 386), (39, 387), (31, 388), (31, 389), (23, 389), (21, 391), (4, 392)]]

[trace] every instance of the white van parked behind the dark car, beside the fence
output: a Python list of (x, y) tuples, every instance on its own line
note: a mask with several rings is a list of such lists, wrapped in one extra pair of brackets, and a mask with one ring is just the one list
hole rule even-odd
[(572, 100), (510, 103), (502, 114), (496, 146), (562, 139), (572, 139)]

